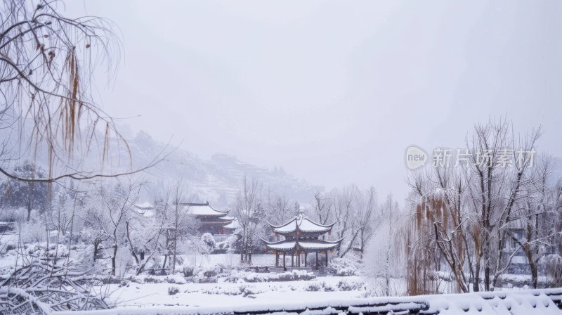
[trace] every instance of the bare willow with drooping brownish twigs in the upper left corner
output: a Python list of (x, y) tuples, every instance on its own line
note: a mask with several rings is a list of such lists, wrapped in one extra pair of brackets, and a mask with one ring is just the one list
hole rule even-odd
[[(104, 167), (110, 139), (129, 152), (112, 117), (92, 97), (94, 72), (105, 70), (108, 80), (115, 76), (119, 38), (108, 20), (69, 18), (62, 7), (46, 0), (4, 0), (0, 6), (0, 173), (11, 179), (116, 176)], [(100, 165), (89, 169), (82, 162), (92, 152)], [(44, 154), (44, 179), (18, 176), (8, 167), (21, 156)]]

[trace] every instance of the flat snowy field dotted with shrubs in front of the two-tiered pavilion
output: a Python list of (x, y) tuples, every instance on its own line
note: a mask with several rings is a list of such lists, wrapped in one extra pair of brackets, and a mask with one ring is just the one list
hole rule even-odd
[[(240, 271), (240, 256), (234, 254), (183, 255), (185, 261), (201, 270), (226, 266), (228, 269), (216, 276), (217, 283), (186, 283), (181, 274), (174, 276), (142, 275), (133, 277), (134, 281), (123, 284), (104, 285), (95, 288), (96, 292), (108, 297), (115, 307), (223, 307), (240, 305), (269, 304), (279, 301), (306, 303), (322, 300), (329, 302), (337, 298), (357, 298), (365, 295), (365, 286), (360, 276), (315, 276), (311, 269), (259, 272)], [(290, 257), (287, 259), (290, 263)], [(252, 267), (272, 267), (275, 256), (253, 255)], [(279, 274), (313, 276), (311, 280), (271, 281)], [(154, 281), (164, 281), (153, 283)], [(263, 282), (256, 282), (263, 281)], [(137, 283), (141, 282), (141, 283)], [(403, 287), (404, 283), (393, 281), (393, 285)], [(399, 284), (398, 284), (399, 283)], [(177, 293), (169, 294), (170, 288)], [(170, 289), (172, 290), (172, 289)]]

